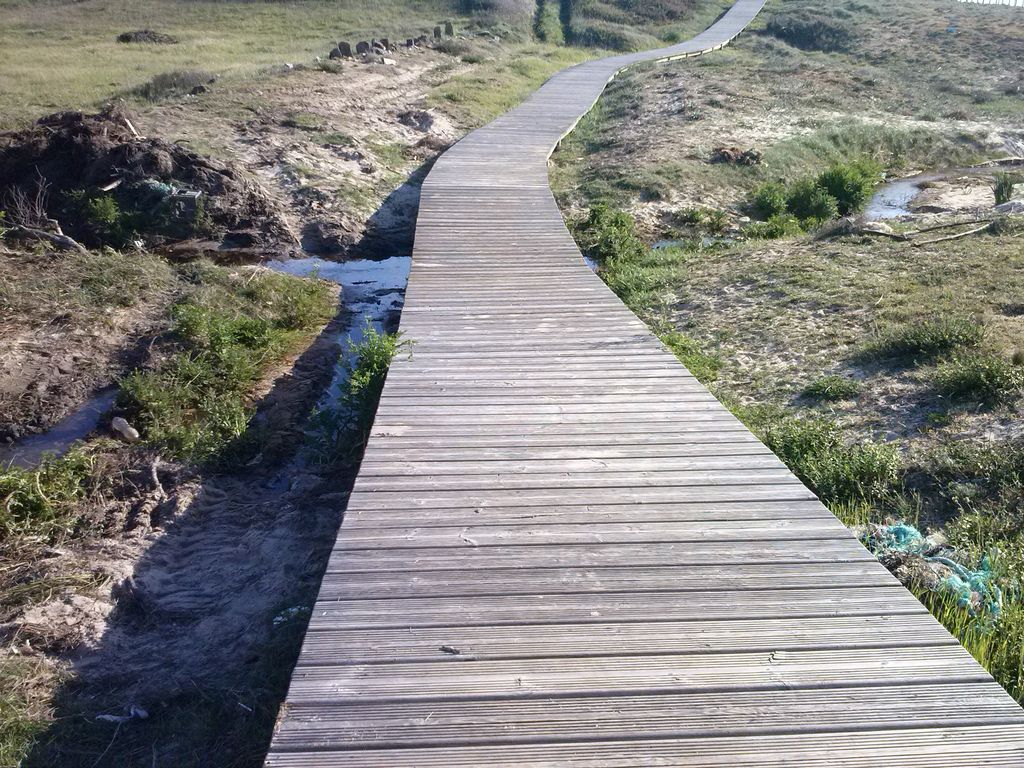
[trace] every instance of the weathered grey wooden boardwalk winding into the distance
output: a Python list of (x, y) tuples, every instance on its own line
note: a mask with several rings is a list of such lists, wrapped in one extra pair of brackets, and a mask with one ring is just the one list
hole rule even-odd
[(373, 436), (267, 758), (1024, 766), (1024, 711), (587, 266), (566, 70), (423, 186)]

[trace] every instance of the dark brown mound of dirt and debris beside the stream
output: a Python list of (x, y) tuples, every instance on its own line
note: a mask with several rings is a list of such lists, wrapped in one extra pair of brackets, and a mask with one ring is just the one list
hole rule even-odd
[[(90, 246), (148, 246), (245, 231), (294, 244), (279, 206), (242, 170), (138, 135), (120, 106), (62, 112), (0, 134), (0, 207), (13, 223)], [(59, 222), (59, 223), (57, 223)]]

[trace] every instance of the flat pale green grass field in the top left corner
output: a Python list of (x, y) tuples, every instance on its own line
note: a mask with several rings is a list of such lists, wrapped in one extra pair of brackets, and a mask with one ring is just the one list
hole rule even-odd
[[(332, 41), (404, 39), (431, 29), (438, 17), (460, 15), (445, 0), (2, 0), (0, 13), (0, 128), (57, 110), (91, 109), (169, 73), (248, 77), (325, 56)], [(180, 42), (117, 42), (119, 33), (142, 28)]]

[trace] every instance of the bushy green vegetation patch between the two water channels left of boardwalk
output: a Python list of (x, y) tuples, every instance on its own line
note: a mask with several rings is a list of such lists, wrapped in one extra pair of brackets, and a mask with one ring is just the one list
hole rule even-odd
[(270, 366), (333, 310), (327, 286), (269, 271), (242, 278), (195, 267), (202, 288), (177, 304), (175, 345), (153, 370), (129, 375), (120, 402), (143, 439), (169, 456), (208, 461), (249, 424), (248, 395)]

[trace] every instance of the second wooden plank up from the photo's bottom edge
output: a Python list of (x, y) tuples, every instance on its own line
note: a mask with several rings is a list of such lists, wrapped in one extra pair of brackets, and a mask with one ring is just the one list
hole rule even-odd
[[(956, 707), (950, 707), (955, 700)], [(793, 733), (860, 729), (892, 723), (931, 727), (978, 722), (1020, 724), (1020, 708), (991, 686), (891, 685), (873, 688), (725, 691), (662, 696), (630, 695), (608, 707), (590, 697), (463, 702), (407, 701), (309, 705), (281, 733), (285, 746), (321, 750), (586, 741), (648, 737), (693, 738), (736, 733)], [(709, 728), (709, 723), (714, 723)]]

